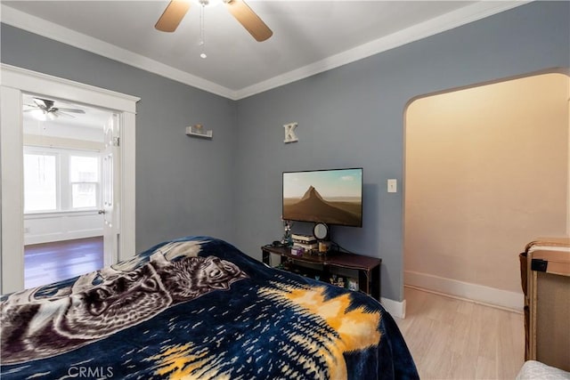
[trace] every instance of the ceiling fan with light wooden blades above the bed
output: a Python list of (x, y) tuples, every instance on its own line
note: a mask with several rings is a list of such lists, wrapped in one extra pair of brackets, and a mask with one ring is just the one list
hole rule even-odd
[[(246, 28), (256, 41), (265, 41), (273, 36), (273, 31), (265, 25), (265, 22), (253, 12), (249, 5), (243, 0), (222, 0), (225, 7), (232, 13), (232, 16)], [(207, 5), (209, 0), (199, 0), (199, 4)], [(182, 21), (184, 15), (190, 9), (190, 2), (183, 0), (172, 0), (164, 10), (154, 28), (163, 32), (174, 32)]]

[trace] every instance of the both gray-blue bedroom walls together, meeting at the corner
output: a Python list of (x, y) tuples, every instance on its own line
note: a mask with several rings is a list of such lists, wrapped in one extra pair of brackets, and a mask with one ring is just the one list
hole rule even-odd
[[(237, 102), (5, 25), (1, 58), (142, 98), (139, 250), (204, 233), (259, 258), (261, 245), (281, 239), (282, 171), (362, 166), (364, 226), (333, 227), (333, 238), (381, 257), (382, 296), (402, 300), (406, 104), (426, 93), (569, 67), (568, 14), (567, 2), (526, 4)], [(300, 141), (284, 144), (282, 125), (295, 121)], [(196, 122), (214, 129), (213, 141), (184, 136), (183, 127)], [(388, 178), (399, 180), (398, 193), (386, 192)]]

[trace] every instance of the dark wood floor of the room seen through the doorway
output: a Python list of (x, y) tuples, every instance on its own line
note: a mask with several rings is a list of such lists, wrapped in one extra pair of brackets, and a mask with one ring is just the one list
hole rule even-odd
[(103, 238), (87, 238), (24, 247), (24, 286), (39, 287), (101, 269)]

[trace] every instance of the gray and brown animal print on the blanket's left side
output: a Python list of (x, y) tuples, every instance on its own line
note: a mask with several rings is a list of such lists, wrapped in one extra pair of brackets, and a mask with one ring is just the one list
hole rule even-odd
[(132, 271), (103, 274), (109, 277), (94, 287), (102, 272), (77, 279), (68, 295), (42, 297), (38, 287), (8, 297), (1, 304), (3, 364), (68, 352), (247, 277), (216, 256), (167, 261), (162, 252)]

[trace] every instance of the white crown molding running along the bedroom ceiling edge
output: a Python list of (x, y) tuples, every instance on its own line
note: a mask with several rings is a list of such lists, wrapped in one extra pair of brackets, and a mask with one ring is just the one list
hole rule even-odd
[(151, 60), (150, 58), (144, 57), (140, 54), (119, 48), (113, 44), (103, 42), (102, 40), (92, 36), (86, 36), (85, 34), (78, 33), (69, 28), (61, 27), (53, 22), (39, 19), (36, 16), (32, 16), (25, 12), (20, 12), (5, 4), (1, 4), (1, 12), (2, 22), (5, 24), (28, 30), (29, 32), (36, 33), (40, 36), (46, 36), (63, 44), (69, 44), (87, 52), (96, 53), (103, 57), (134, 66), (138, 69), (143, 69), (151, 73), (158, 74), (159, 76), (181, 82), (185, 85), (191, 85), (201, 90), (208, 91), (209, 93), (215, 93), (217, 95), (224, 96), (225, 98), (237, 101), (256, 93), (262, 93), (272, 88), (286, 85), (305, 77), (313, 76), (314, 74), (318, 74), (322, 71), (338, 68), (339, 66), (347, 63), (362, 60), (363, 58), (371, 55), (382, 53), (428, 36), (434, 36), (437, 33), (444, 32), (445, 30), (457, 28), (461, 25), (468, 24), (469, 22), (481, 20), (485, 17), (492, 16), (493, 14), (508, 11), (509, 9), (527, 3), (529, 3), (529, 1), (479, 1), (456, 11), (448, 12), (432, 20), (424, 21), (410, 28), (403, 29), (392, 35), (371, 41), (368, 44), (362, 44), (354, 47), (344, 53), (338, 53), (322, 61), (317, 61), (302, 68), (291, 70), (277, 77), (270, 78), (254, 85), (249, 85), (237, 91), (224, 87), (223, 85), (217, 85), (216, 83), (210, 82), (201, 77), (193, 76), (190, 73), (167, 66), (159, 61)]

